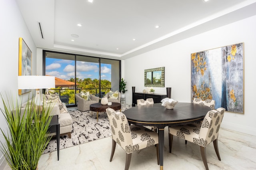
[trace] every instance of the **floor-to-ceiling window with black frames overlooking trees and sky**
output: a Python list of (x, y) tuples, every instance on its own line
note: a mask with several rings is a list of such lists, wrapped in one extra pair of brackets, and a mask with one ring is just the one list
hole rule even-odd
[(75, 93), (81, 91), (99, 97), (119, 91), (120, 60), (43, 50), (43, 73), (56, 77), (49, 92), (67, 97), (67, 106), (76, 105)]

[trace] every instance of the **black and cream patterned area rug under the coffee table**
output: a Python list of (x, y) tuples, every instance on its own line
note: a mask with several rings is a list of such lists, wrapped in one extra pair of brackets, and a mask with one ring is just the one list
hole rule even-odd
[[(131, 107), (132, 105), (122, 104), (121, 110), (123, 112)], [(73, 119), (71, 138), (68, 138), (66, 135), (60, 136), (60, 149), (111, 136), (106, 112), (98, 114), (98, 122), (96, 112), (92, 113), (92, 117), (91, 111), (82, 112), (77, 109), (68, 108), (68, 112)], [(54, 137), (47, 145), (44, 153), (55, 150), (57, 150), (57, 143), (56, 138)]]

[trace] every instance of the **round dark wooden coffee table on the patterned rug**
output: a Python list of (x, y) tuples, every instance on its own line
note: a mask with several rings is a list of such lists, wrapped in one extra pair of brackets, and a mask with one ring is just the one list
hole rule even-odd
[(121, 112), (121, 103), (114, 103), (112, 105), (102, 105), (101, 103), (94, 103), (90, 105), (90, 111), (97, 112), (97, 122), (98, 122), (98, 113), (99, 112), (106, 112), (107, 108), (114, 109), (115, 111), (120, 110)]

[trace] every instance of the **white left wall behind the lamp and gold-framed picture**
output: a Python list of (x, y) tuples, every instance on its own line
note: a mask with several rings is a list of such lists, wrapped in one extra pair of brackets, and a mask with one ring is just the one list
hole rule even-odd
[[(0, 0), (0, 93), (11, 95), (16, 99), (18, 96), (18, 55), (19, 37), (27, 43), (32, 51), (32, 75), (36, 75), (36, 46), (28, 32), (27, 26), (22, 18), (15, 0)], [(22, 95), (23, 101), (28, 99), (28, 94)], [(18, 97), (20, 100), (20, 97)], [(0, 101), (0, 108), (3, 103)], [(7, 125), (4, 116), (0, 113), (0, 128), (6, 130)], [(4, 138), (0, 135), (1, 142)], [(0, 152), (0, 169), (4, 156)]]

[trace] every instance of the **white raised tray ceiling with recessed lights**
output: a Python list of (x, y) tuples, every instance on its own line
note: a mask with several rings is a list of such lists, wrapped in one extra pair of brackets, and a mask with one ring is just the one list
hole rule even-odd
[(116, 59), (256, 15), (256, 0), (16, 1), (36, 47)]

